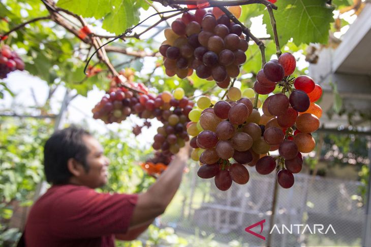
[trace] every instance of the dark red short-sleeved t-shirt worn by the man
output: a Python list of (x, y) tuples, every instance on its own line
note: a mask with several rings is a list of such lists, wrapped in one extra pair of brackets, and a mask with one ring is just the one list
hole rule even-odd
[(52, 186), (30, 210), (27, 247), (114, 246), (126, 233), (138, 195), (98, 193), (85, 186)]

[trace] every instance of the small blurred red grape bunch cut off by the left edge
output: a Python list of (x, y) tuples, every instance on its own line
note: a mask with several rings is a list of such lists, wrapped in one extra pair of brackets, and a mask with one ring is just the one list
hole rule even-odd
[(0, 79), (6, 78), (8, 73), (16, 69), (23, 70), (24, 62), (8, 45), (4, 45), (0, 48)]

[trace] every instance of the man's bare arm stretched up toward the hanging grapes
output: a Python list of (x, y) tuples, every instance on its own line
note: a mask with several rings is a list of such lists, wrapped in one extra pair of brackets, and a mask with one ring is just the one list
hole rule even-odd
[(182, 148), (160, 178), (138, 196), (130, 227), (140, 225), (164, 213), (179, 188), (183, 169), (189, 157), (189, 146)]

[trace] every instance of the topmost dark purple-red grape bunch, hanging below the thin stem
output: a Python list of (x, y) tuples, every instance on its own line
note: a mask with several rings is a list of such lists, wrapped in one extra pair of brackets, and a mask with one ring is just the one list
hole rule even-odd
[[(240, 15), (241, 7), (230, 7)], [(193, 70), (199, 78), (214, 80), (227, 88), (230, 78), (239, 75), (239, 66), (246, 61), (249, 44), (242, 27), (232, 22), (215, 7), (211, 12), (196, 10), (185, 12), (171, 28), (165, 29), (166, 41), (160, 47), (164, 56), (165, 73), (183, 79)]]

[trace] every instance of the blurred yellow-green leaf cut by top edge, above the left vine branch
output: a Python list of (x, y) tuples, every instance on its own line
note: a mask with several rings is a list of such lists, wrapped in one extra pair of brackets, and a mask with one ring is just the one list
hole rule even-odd
[(83, 17), (100, 19), (112, 11), (112, 0), (59, 0), (57, 6)]

